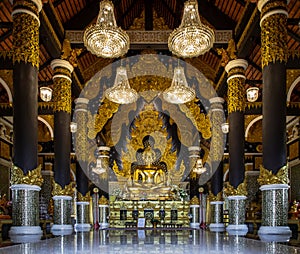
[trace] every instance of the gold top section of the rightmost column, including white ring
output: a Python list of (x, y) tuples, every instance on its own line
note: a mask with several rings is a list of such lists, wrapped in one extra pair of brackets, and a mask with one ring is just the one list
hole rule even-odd
[(285, 1), (259, 1), (261, 12), (262, 68), (275, 62), (287, 62), (287, 4)]

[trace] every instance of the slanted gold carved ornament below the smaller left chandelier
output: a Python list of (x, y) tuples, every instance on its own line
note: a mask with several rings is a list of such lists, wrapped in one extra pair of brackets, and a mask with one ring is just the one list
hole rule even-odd
[(108, 119), (110, 119), (114, 113), (119, 109), (119, 104), (114, 103), (110, 100), (104, 99), (103, 103), (98, 109), (98, 113), (92, 115), (88, 111), (88, 137), (94, 139), (98, 132), (100, 132)]

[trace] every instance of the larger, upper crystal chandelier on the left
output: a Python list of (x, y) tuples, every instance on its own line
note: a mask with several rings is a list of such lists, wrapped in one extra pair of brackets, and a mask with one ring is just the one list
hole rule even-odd
[(100, 3), (97, 22), (85, 30), (83, 42), (87, 50), (98, 57), (117, 58), (127, 53), (129, 36), (117, 27), (111, 1)]

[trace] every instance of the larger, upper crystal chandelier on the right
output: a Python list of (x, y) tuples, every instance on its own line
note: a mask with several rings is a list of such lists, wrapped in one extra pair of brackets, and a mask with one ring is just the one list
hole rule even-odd
[(170, 51), (180, 57), (196, 57), (209, 51), (214, 41), (214, 31), (200, 21), (197, 1), (186, 1), (181, 24), (168, 39)]

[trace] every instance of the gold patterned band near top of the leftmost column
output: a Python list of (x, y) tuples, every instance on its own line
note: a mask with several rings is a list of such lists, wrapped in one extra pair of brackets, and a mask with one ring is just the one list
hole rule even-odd
[(31, 15), (16, 13), (13, 15), (13, 63), (31, 63), (39, 67), (39, 23)]

